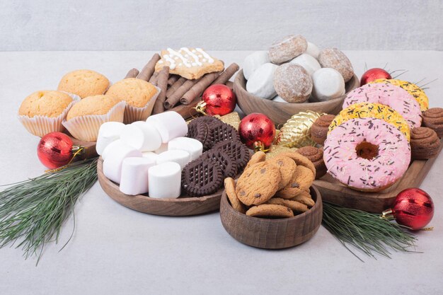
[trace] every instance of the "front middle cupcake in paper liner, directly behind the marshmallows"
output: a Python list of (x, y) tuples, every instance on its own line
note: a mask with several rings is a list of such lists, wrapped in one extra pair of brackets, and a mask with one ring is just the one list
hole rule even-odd
[(88, 96), (72, 106), (62, 124), (76, 139), (96, 141), (103, 123), (123, 122), (125, 106), (114, 96)]

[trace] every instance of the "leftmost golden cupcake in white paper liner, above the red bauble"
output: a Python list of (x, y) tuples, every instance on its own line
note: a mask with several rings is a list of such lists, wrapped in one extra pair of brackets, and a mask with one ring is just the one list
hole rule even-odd
[(18, 120), (31, 134), (43, 137), (50, 132), (61, 132), (69, 109), (79, 96), (62, 91), (42, 90), (30, 94), (18, 109)]

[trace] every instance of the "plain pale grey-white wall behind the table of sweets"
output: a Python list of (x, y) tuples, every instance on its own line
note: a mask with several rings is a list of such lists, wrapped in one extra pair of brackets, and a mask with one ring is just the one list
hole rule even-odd
[(441, 0), (0, 1), (0, 50), (443, 50)]

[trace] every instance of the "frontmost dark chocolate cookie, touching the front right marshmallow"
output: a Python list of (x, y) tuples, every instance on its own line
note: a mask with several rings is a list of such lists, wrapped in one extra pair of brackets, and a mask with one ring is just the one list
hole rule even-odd
[(183, 190), (190, 196), (211, 195), (222, 187), (222, 167), (212, 160), (197, 158), (183, 168), (181, 181)]

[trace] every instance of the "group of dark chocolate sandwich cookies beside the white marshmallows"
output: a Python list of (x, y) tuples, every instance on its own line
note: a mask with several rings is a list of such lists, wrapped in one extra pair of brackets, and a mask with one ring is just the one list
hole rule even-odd
[(200, 141), (205, 153), (183, 168), (182, 188), (187, 195), (202, 197), (217, 192), (224, 178), (235, 178), (249, 161), (250, 151), (236, 129), (215, 117), (192, 120), (188, 137)]

